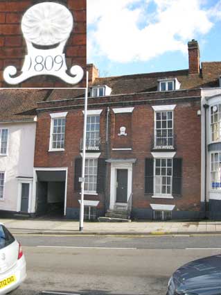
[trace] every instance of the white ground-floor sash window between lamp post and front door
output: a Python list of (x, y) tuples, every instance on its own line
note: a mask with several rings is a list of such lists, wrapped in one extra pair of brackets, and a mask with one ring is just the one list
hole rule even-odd
[(85, 191), (96, 192), (98, 174), (98, 159), (85, 160)]

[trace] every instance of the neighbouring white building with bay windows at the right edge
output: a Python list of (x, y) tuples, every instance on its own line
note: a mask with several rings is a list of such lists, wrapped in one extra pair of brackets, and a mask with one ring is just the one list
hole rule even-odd
[[(221, 82), (221, 81), (220, 81)], [(221, 85), (220, 85), (221, 86)], [(221, 218), (221, 89), (202, 90), (202, 202), (210, 219)]]

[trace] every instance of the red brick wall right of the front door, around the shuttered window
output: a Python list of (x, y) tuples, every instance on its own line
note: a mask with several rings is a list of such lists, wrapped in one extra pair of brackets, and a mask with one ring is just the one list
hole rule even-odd
[[(136, 106), (133, 112), (133, 206), (150, 208), (150, 203), (176, 205), (175, 210), (200, 210), (201, 127), (196, 103), (177, 103), (174, 110), (174, 133), (177, 136), (175, 157), (183, 159), (182, 196), (175, 199), (152, 199), (144, 192), (145, 158), (151, 158), (151, 135), (154, 134), (154, 111), (151, 106)], [(116, 155), (116, 152), (113, 156)], [(121, 156), (119, 157), (121, 158)]]

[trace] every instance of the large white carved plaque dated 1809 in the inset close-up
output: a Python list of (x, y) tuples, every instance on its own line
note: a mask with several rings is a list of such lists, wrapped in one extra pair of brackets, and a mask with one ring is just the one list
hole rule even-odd
[[(25, 56), (21, 74), (14, 66), (3, 71), (3, 78), (9, 84), (19, 84), (26, 79), (51, 75), (69, 84), (79, 83), (84, 71), (74, 65), (67, 74), (64, 46), (73, 28), (73, 16), (62, 4), (43, 2), (29, 8), (21, 20), (21, 31), (26, 40), (28, 54)], [(43, 47), (43, 48), (42, 48)]]

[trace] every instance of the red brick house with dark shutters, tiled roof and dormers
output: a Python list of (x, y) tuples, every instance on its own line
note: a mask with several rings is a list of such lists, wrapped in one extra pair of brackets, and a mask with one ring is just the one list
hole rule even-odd
[[(88, 65), (85, 217), (127, 217), (128, 210), (143, 219), (204, 217), (201, 88), (220, 86), (221, 62), (200, 66), (195, 40), (188, 53), (189, 68), (179, 71), (99, 78)], [(39, 212), (56, 183), (62, 213), (79, 217), (83, 97), (57, 90), (38, 103)]]

